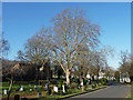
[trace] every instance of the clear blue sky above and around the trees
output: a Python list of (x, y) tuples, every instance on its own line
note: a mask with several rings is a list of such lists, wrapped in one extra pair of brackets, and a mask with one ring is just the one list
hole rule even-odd
[(131, 3), (130, 2), (10, 2), (2, 3), (2, 31), (10, 43), (8, 59), (17, 52), (42, 26), (50, 27), (51, 18), (66, 8), (81, 8), (88, 18), (102, 28), (101, 42), (115, 49), (109, 64), (119, 67), (120, 51), (131, 52)]

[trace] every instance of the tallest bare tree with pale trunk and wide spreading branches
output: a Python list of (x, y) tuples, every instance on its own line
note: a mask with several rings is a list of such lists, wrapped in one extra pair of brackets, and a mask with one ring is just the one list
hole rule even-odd
[(83, 10), (65, 9), (52, 19), (53, 29), (42, 28), (35, 34), (49, 50), (52, 51), (66, 77), (70, 84), (70, 72), (78, 59), (80, 46), (85, 44), (90, 50), (99, 44), (100, 26), (91, 23)]

